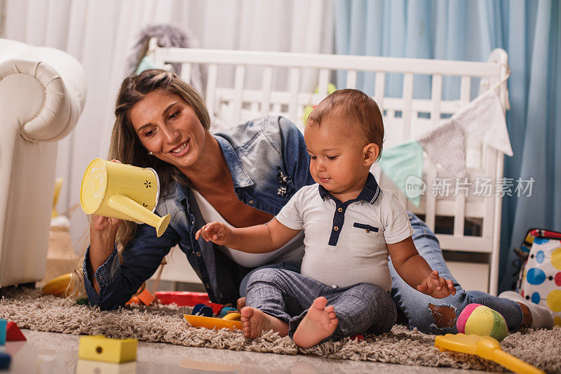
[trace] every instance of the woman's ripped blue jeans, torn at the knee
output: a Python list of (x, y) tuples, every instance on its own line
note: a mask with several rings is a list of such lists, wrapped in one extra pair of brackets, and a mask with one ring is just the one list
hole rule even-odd
[[(428, 334), (446, 334), (457, 333), (456, 321), (439, 321), (442, 316), (442, 308), (450, 309), (454, 312), (456, 318), (459, 316), (466, 305), (476, 302), (496, 310), (503, 315), (508, 330), (516, 330), (522, 323), (522, 309), (518, 302), (497, 298), (481, 291), (466, 291), (461, 288), (458, 281), (454, 279), (450, 269), (446, 266), (446, 262), (442, 257), (440, 243), (436, 239), (435, 234), (421, 219), (413, 213), (407, 212), (411, 226), (414, 229), (413, 242), (419, 254), (428, 262), (433, 270), (438, 270), (440, 276), (446, 279), (452, 279), (456, 287), (456, 295), (450, 295), (444, 299), (435, 299), (431, 296), (420, 293), (418, 290), (409, 286), (393, 268), (391, 261), (389, 262), (392, 288), (391, 296), (409, 323), (410, 328), (417, 328), (422, 333)], [(293, 271), (299, 271), (299, 264), (275, 264), (266, 265), (264, 267), (273, 267), (280, 269), (290, 268)], [(262, 269), (261, 267), (259, 269)], [(245, 286), (248, 278), (254, 271), (250, 272), (243, 279), (240, 286), (240, 295), (245, 295)]]

